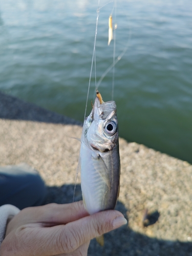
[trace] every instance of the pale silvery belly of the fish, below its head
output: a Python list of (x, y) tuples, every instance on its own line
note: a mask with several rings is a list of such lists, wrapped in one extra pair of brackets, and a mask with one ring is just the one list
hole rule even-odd
[(106, 169), (99, 153), (91, 151), (90, 148), (82, 144), (80, 154), (81, 190), (84, 206), (90, 215), (101, 210), (113, 209), (117, 201), (119, 175), (117, 174), (117, 185), (114, 187), (115, 184), (111, 180), (114, 175), (111, 174), (110, 168)]

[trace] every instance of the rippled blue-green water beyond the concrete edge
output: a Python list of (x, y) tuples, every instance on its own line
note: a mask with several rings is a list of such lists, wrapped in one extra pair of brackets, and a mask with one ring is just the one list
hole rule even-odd
[[(1, 0), (0, 90), (83, 120), (97, 1)], [(109, 1), (110, 2), (110, 1)], [(100, 6), (108, 1), (100, 0)], [(97, 79), (113, 62), (100, 9)], [(192, 2), (117, 1), (114, 99), (120, 136), (192, 162)], [(88, 111), (94, 98), (94, 74)], [(111, 100), (112, 71), (100, 84)], [(90, 103), (89, 103), (90, 102)]]

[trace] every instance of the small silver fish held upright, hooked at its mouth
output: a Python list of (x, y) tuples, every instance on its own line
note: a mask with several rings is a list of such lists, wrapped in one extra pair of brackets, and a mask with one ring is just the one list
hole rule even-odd
[(114, 209), (120, 180), (116, 104), (104, 102), (98, 91), (83, 124), (79, 160), (84, 207), (90, 215)]

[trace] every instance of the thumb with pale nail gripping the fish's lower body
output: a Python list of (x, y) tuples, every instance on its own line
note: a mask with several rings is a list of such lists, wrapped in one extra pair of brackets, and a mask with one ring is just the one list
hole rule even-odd
[(65, 225), (59, 234), (60, 253), (76, 250), (83, 243), (127, 223), (117, 210), (106, 210)]

